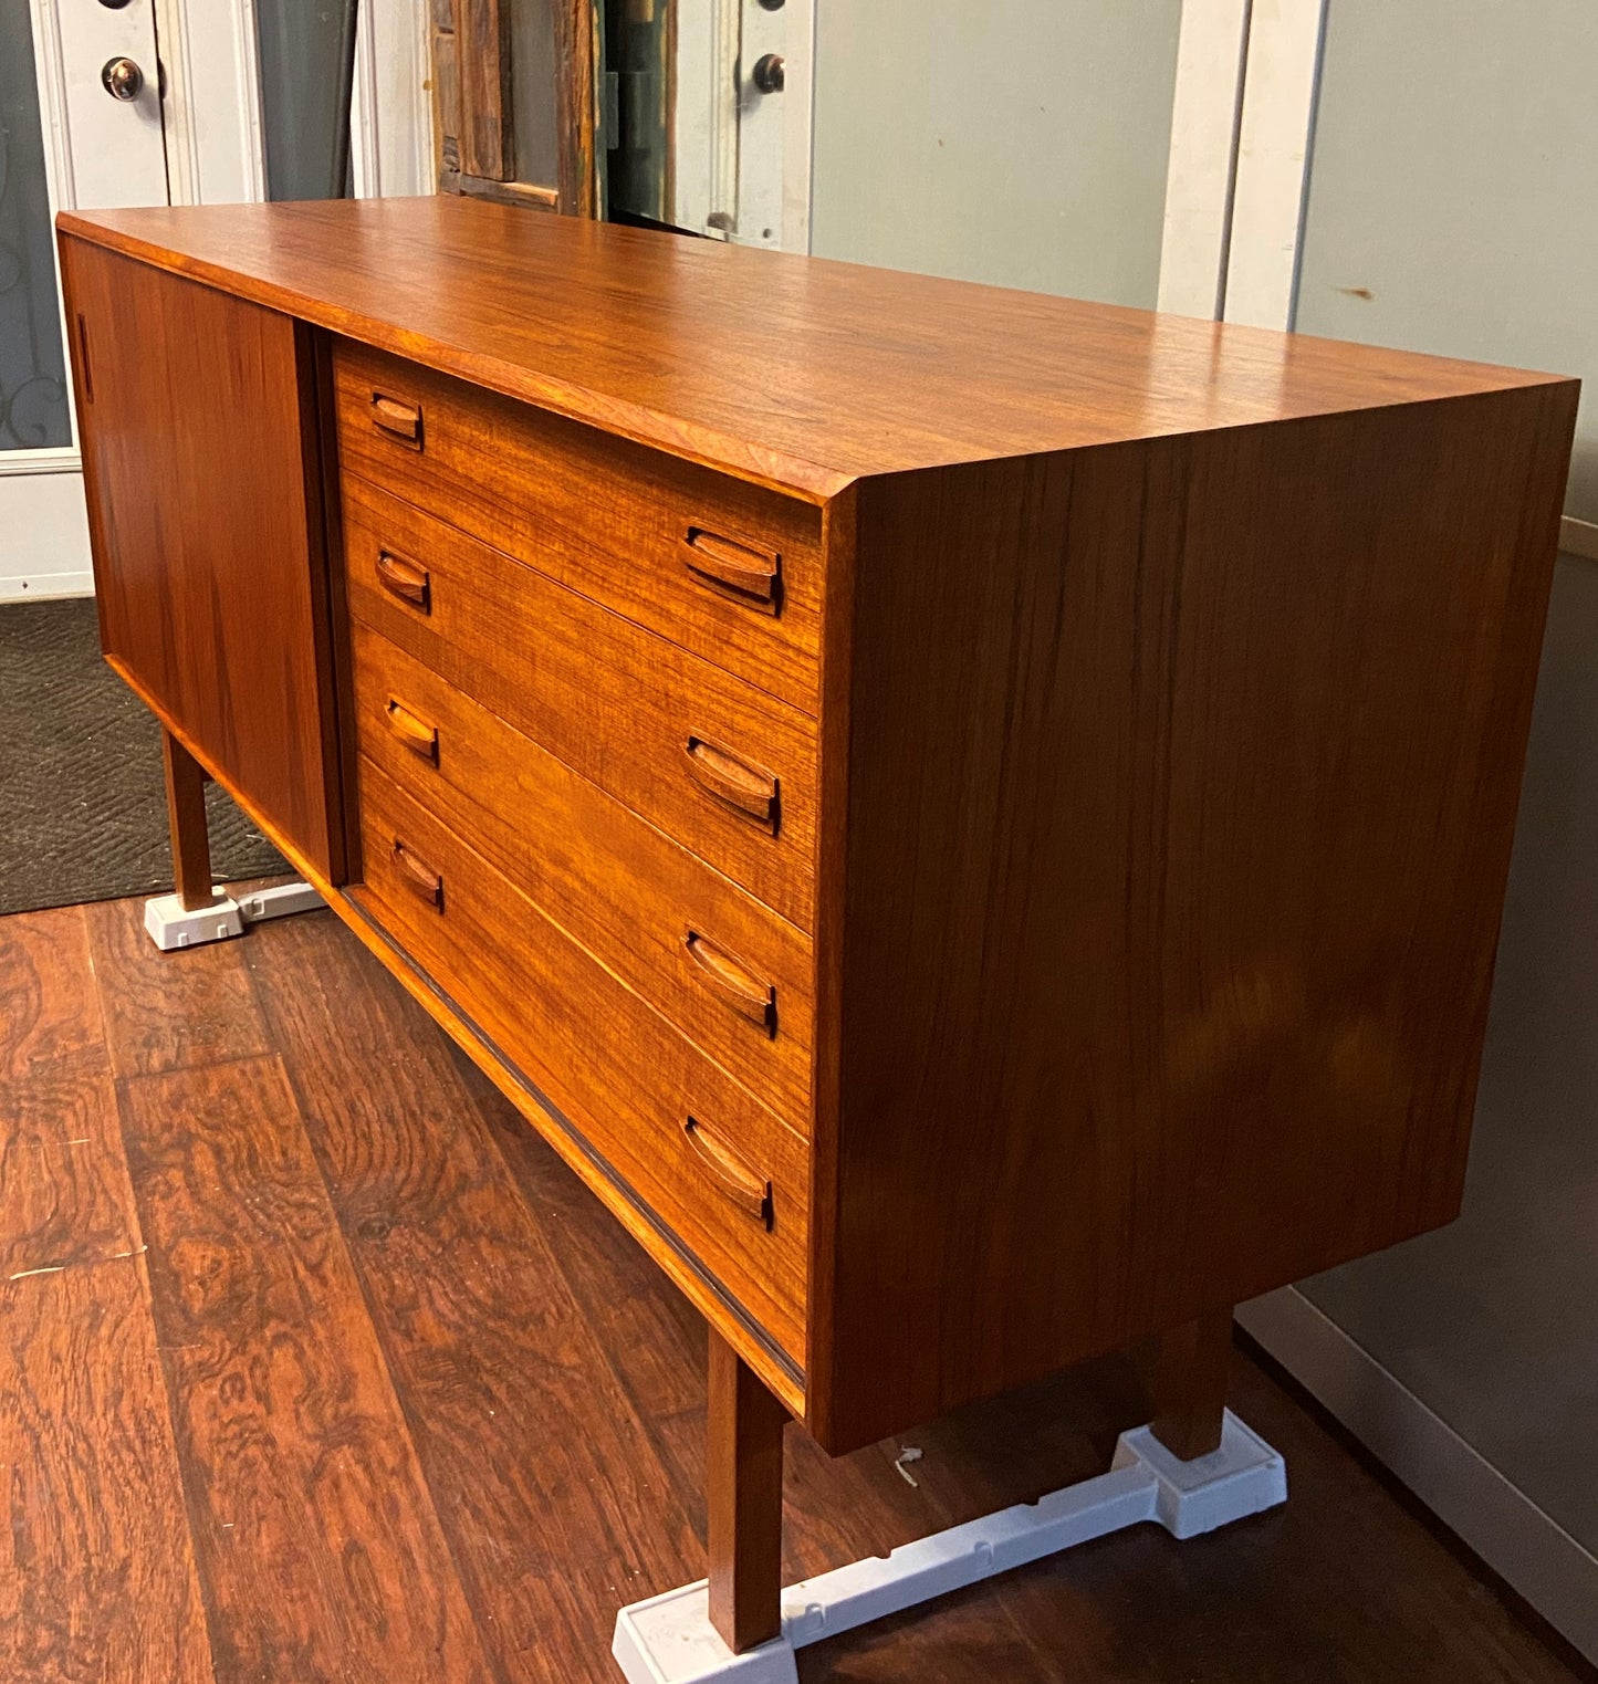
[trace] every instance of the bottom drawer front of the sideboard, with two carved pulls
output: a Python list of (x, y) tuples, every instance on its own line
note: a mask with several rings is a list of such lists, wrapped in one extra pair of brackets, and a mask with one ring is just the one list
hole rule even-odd
[(370, 763), (360, 834), (354, 899), (803, 1367), (805, 1142)]

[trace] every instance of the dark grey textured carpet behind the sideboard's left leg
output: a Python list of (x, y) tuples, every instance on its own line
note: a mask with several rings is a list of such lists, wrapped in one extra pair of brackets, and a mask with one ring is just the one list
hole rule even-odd
[[(219, 882), (288, 871), (209, 785)], [(0, 606), (0, 913), (172, 887), (162, 733), (99, 657), (94, 603)]]

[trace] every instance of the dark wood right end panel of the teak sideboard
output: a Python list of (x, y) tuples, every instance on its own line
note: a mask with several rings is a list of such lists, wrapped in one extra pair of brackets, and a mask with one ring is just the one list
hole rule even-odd
[(1457, 1214), (1573, 399), (862, 487), (828, 1448)]

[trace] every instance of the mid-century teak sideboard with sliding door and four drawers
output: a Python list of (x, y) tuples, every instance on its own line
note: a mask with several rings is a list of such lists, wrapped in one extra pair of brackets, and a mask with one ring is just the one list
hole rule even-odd
[(1571, 381), (461, 199), (64, 216), (108, 660), (832, 1452), (1450, 1221)]

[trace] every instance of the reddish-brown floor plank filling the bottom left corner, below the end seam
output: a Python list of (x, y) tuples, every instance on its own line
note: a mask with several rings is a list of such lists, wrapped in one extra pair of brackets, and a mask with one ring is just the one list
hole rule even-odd
[(0, 1676), (209, 1684), (141, 1261), (0, 1285)]

